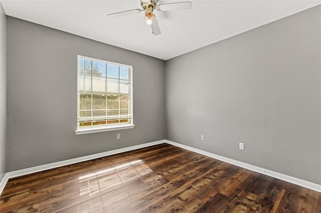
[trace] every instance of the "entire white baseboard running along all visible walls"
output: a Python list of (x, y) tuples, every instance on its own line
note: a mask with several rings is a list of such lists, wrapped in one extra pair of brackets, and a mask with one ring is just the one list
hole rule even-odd
[(109, 156), (112, 154), (118, 154), (121, 152), (125, 152), (125, 151), (130, 151), (130, 150), (134, 150), (134, 149), (138, 149), (138, 148), (143, 148), (143, 147), (147, 147), (147, 146), (151, 146), (151, 145), (156, 145), (156, 144), (161, 144), (161, 143), (169, 143), (181, 148), (185, 148), (187, 150), (190, 151), (194, 151), (196, 153), (200, 153), (218, 160), (222, 160), (224, 162), (228, 162), (231, 163), (233, 165), (237, 165), (240, 166), (242, 168), (246, 168), (252, 171), (256, 171), (271, 177), (275, 177), (296, 185), (300, 185), (318, 192), (321, 192), (321, 185), (313, 183), (313, 182), (309, 182), (306, 180), (302, 180), (296, 177), (292, 177), (292, 176), (288, 176), (282, 173), (278, 173), (275, 171), (271, 171), (265, 168), (261, 168), (255, 165), (251, 165), (245, 162), (241, 162), (238, 160), (234, 160), (228, 157), (223, 157), (217, 154), (213, 154), (211, 152), (207, 152), (207, 151), (203, 151), (201, 149), (197, 149), (197, 148), (193, 148), (191, 146), (187, 146), (181, 143), (177, 143), (177, 142), (173, 142), (171, 140), (157, 140), (154, 142), (148, 142), (148, 143), (143, 143), (143, 144), (139, 144), (139, 145), (134, 145), (134, 146), (129, 146), (129, 147), (125, 147), (125, 148), (119, 148), (119, 149), (115, 149), (115, 150), (111, 150), (111, 151), (105, 151), (105, 152), (101, 152), (101, 153), (97, 153), (97, 154), (91, 154), (91, 155), (87, 155), (87, 156), (83, 156), (83, 157), (77, 157), (77, 158), (73, 158), (73, 159), (68, 159), (68, 160), (63, 160), (63, 161), (59, 161), (59, 162), (54, 162), (54, 163), (49, 163), (49, 164), (45, 164), (45, 165), (39, 165), (39, 166), (35, 166), (35, 167), (31, 167), (31, 168), (25, 168), (25, 169), (21, 169), (21, 170), (16, 170), (16, 171), (10, 171), (7, 172), (4, 176), (4, 178), (1, 180), (0, 182), (0, 194), (2, 193), (3, 189), (5, 188), (5, 185), (7, 184), (9, 178), (12, 177), (17, 177), (17, 176), (22, 176), (22, 175), (26, 175), (26, 174), (31, 174), (31, 173), (35, 173), (35, 172), (39, 172), (39, 171), (44, 171), (47, 169), (51, 169), (51, 168), (57, 168), (59, 166), (64, 166), (64, 165), (70, 165), (73, 163), (78, 163), (78, 162), (83, 162), (86, 160), (91, 160), (91, 159), (95, 159), (95, 158), (99, 158), (99, 157), (104, 157), (104, 156)]

